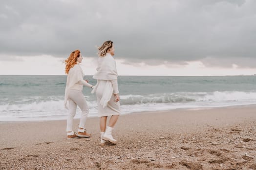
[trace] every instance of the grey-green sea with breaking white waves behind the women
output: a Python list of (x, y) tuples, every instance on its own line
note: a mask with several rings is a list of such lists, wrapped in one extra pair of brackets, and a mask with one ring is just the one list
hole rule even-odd
[[(85, 76), (95, 85), (92, 76)], [(0, 121), (66, 119), (66, 76), (0, 75)], [(121, 114), (256, 104), (256, 76), (119, 76)], [(97, 116), (91, 89), (83, 93)], [(77, 108), (75, 118), (81, 110)]]

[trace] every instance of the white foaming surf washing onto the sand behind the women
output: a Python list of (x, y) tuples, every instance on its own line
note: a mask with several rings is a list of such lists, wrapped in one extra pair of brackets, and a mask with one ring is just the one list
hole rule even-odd
[[(139, 111), (167, 110), (176, 108), (220, 107), (256, 104), (256, 92), (215, 91), (215, 92), (176, 92), (149, 95), (122, 95), (122, 113)], [(97, 116), (97, 102), (85, 96), (89, 107), (89, 117)], [(42, 120), (66, 119), (67, 110), (60, 97), (48, 101), (35, 100), (31, 103), (1, 104), (0, 120)], [(26, 101), (26, 99), (24, 99)], [(80, 109), (77, 110), (78, 118)]]

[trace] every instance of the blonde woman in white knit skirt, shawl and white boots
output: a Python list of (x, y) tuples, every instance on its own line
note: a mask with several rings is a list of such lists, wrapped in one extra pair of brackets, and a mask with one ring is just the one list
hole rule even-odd
[[(120, 114), (120, 98), (117, 84), (116, 62), (113, 58), (115, 49), (112, 41), (106, 41), (99, 48), (97, 79), (93, 92), (96, 92), (98, 116), (100, 117), (101, 146), (106, 142), (116, 144), (112, 130)], [(107, 117), (110, 117), (107, 126)]]

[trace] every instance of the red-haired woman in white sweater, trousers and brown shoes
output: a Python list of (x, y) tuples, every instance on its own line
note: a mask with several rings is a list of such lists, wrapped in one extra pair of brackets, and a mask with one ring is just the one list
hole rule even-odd
[[(87, 80), (83, 80), (84, 73), (79, 65), (83, 60), (79, 50), (71, 52), (69, 57), (65, 60), (66, 68), (65, 73), (67, 74), (66, 88), (65, 88), (65, 107), (68, 109), (67, 116), (67, 138), (77, 137), (90, 137), (91, 134), (85, 130), (85, 122), (88, 116), (88, 106), (83, 95), (83, 85), (92, 88), (93, 86), (88, 84)], [(68, 102), (68, 106), (67, 106)], [(72, 129), (73, 119), (76, 114), (77, 105), (82, 110), (82, 115), (79, 123), (78, 133), (75, 133)]]

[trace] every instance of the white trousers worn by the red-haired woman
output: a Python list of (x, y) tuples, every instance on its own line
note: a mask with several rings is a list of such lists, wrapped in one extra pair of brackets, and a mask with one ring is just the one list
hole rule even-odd
[(70, 89), (68, 95), (68, 116), (66, 123), (66, 131), (73, 131), (73, 119), (76, 115), (76, 108), (78, 107), (82, 110), (79, 127), (85, 128), (85, 122), (89, 113), (87, 102), (85, 100), (82, 90)]

